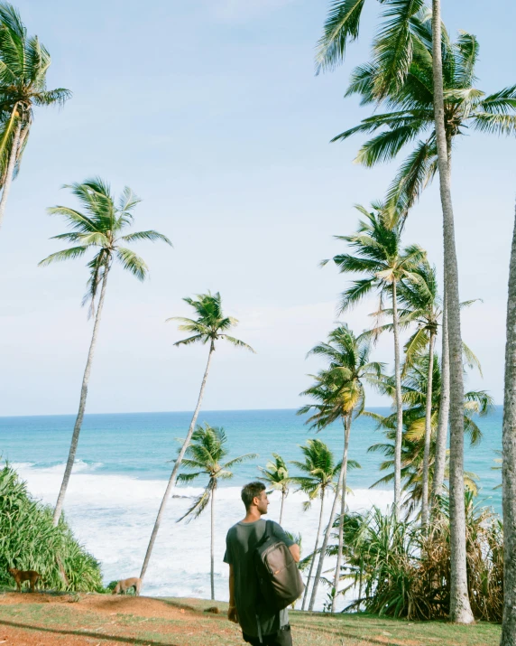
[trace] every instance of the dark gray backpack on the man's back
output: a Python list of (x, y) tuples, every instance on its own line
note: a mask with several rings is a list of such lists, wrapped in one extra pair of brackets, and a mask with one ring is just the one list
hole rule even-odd
[(298, 566), (290, 549), (274, 536), (272, 520), (266, 521), (265, 534), (254, 548), (254, 567), (263, 605), (272, 612), (280, 612), (302, 595), (305, 585)]

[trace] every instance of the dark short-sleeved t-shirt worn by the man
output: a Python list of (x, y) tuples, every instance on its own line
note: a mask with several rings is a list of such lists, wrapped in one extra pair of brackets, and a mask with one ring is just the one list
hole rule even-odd
[[(272, 532), (290, 548), (294, 541), (285, 534), (277, 522), (272, 522)], [(258, 621), (263, 635), (270, 635), (289, 623), (289, 613), (264, 611), (260, 607), (258, 577), (254, 569), (254, 548), (265, 533), (265, 520), (237, 522), (226, 536), (225, 563), (233, 566), (235, 576), (235, 605), (238, 623), (247, 635), (258, 637)], [(262, 604), (263, 605), (263, 604)], [(257, 614), (259, 616), (257, 617)]]

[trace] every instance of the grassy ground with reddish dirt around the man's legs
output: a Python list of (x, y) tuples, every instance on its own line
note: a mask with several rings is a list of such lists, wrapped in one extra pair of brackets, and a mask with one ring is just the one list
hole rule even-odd
[[(161, 646), (230, 646), (243, 644), (224, 614), (203, 612), (214, 605), (194, 599), (112, 599), (81, 595), (53, 599), (0, 595), (0, 637), (11, 643), (78, 646), (131, 643)], [(96, 598), (93, 598), (96, 597)], [(79, 599), (79, 600), (78, 600)], [(78, 601), (77, 601), (78, 600)], [(18, 603), (23, 602), (23, 603)], [(52, 603), (53, 602), (53, 603)], [(69, 603), (76, 602), (76, 603)], [(115, 603), (116, 602), (116, 603)], [(125, 603), (127, 602), (127, 603)], [(221, 613), (226, 604), (215, 605)], [(296, 646), (497, 646), (500, 627), (479, 623), (410, 623), (363, 614), (290, 614)]]

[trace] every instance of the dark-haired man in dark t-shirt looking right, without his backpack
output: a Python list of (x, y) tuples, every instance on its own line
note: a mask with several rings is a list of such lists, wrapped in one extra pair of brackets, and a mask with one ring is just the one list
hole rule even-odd
[[(262, 540), (269, 499), (263, 482), (249, 482), (242, 490), (245, 518), (237, 522), (226, 536), (225, 563), (229, 565), (228, 619), (240, 623), (244, 641), (252, 646), (291, 646), (289, 613), (272, 613), (260, 604), (260, 588), (254, 569), (254, 548)], [(272, 523), (272, 533), (290, 549), (299, 563), (299, 545), (290, 540), (278, 523)]]

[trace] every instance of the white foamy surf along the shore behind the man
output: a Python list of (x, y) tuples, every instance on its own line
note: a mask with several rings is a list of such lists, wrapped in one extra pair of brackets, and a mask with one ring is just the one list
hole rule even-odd
[[(36, 468), (31, 463), (13, 466), (28, 482), (33, 496), (46, 503), (55, 502), (64, 464), (49, 468)], [(76, 464), (65, 502), (67, 518), (78, 539), (101, 562), (106, 583), (138, 576), (166, 482), (104, 475), (95, 473), (95, 469), (96, 465)], [(177, 487), (172, 492), (145, 578), (145, 594), (209, 596), (208, 510), (198, 520), (176, 522), (201, 491), (196, 487)], [(290, 494), (282, 524), (285, 529), (302, 535), (303, 551), (308, 554), (315, 541), (318, 504), (303, 511), (304, 500), (305, 496), (300, 493)], [(278, 519), (279, 503), (278, 494), (272, 493), (272, 520)], [(373, 505), (385, 509), (392, 503), (392, 493), (356, 490), (348, 496), (348, 503), (350, 510), (365, 510)], [(227, 599), (225, 538), (227, 529), (243, 516), (240, 487), (217, 490), (216, 512), (216, 596)], [(321, 587), (319, 608), (326, 594)]]

